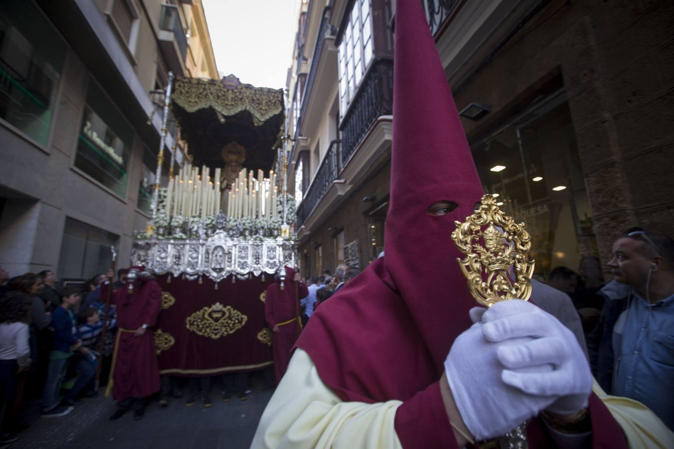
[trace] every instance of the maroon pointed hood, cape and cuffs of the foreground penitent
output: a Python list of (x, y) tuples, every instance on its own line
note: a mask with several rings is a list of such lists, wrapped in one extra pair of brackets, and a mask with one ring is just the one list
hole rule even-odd
[[(396, 6), (385, 255), (315, 311), (297, 347), (342, 401), (402, 401), (395, 428), (404, 448), (456, 448), (439, 380), (477, 303), (450, 234), (483, 189), (421, 4)], [(436, 201), (456, 208), (429, 215)], [(594, 394), (589, 402), (594, 448), (626, 448), (605, 405)], [(554, 447), (541, 419), (527, 430), (531, 449)]]

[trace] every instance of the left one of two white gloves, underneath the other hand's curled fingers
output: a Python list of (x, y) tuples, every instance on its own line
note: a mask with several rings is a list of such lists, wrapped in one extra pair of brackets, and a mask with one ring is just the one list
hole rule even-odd
[[(487, 341), (483, 335), (484, 324), (479, 321), (482, 314), (486, 314), (485, 309), (474, 308), (470, 311), (470, 318), (477, 322), (454, 341), (445, 360), (445, 372), (466, 427), (477, 440), (488, 440), (537, 416), (557, 396), (526, 394), (501, 380), (503, 366), (497, 359), (499, 347), (522, 345), (533, 339), (512, 339), (499, 343)], [(551, 366), (537, 366), (534, 369), (552, 370)], [(530, 368), (516, 371), (523, 370)]]

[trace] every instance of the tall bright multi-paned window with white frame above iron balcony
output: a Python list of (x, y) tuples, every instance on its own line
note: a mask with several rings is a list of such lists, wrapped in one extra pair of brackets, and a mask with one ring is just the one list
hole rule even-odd
[(356, 0), (348, 15), (342, 42), (338, 47), (339, 109), (342, 114), (353, 100), (372, 61), (372, 42), (370, 0)]

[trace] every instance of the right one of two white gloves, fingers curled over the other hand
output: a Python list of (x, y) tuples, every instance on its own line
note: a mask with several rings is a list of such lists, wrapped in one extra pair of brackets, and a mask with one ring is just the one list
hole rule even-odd
[[(546, 409), (571, 414), (588, 405), (592, 374), (574, 334), (551, 314), (525, 301), (499, 302), (482, 314), (483, 335), (498, 343), (497, 357), (507, 368), (505, 384), (539, 398), (555, 399)], [(522, 337), (533, 337), (521, 341)], [(520, 340), (517, 345), (502, 343)], [(553, 366), (549, 370), (528, 370)]]

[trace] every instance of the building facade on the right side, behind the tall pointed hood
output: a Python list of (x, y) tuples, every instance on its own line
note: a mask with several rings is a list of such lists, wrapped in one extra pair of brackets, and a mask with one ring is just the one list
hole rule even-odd
[[(674, 234), (671, 2), (420, 1), (485, 192), (526, 222), (537, 276), (605, 265), (630, 226)], [(384, 248), (395, 20), (393, 1), (336, 0), (300, 21), (305, 82), (288, 103), (303, 275), (362, 269)]]

